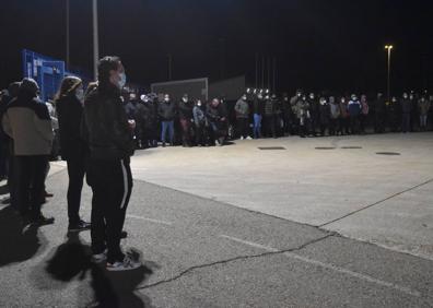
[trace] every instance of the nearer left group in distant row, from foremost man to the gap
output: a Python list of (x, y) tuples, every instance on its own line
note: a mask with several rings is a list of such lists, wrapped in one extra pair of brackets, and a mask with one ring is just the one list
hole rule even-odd
[(147, 95), (138, 99), (131, 93), (125, 109), (128, 118), (137, 122), (134, 138), (139, 149), (157, 146), (159, 141), (162, 146), (174, 145), (178, 137), (183, 146), (223, 145), (227, 135), (227, 109), (218, 98), (203, 104), (201, 99), (190, 100), (186, 94), (175, 102), (165, 94), (159, 102)]

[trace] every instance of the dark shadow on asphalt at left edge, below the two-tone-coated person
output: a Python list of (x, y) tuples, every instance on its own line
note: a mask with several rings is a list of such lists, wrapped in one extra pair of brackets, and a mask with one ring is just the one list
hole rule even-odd
[(28, 260), (45, 246), (38, 227), (24, 226), (12, 206), (0, 211), (0, 266)]

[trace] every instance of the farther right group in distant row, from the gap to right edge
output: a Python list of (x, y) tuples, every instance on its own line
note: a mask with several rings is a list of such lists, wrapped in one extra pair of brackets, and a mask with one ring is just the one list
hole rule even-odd
[[(416, 97), (414, 94), (403, 93), (401, 99), (393, 97), (387, 103), (383, 94), (376, 99), (367, 102), (365, 95), (352, 94), (346, 96), (319, 96), (314, 93), (305, 95), (297, 91), (289, 98), (277, 95), (243, 95), (236, 103), (237, 134), (241, 139), (253, 135), (280, 137), (286, 134), (306, 135), (337, 135), (365, 133), (367, 127), (374, 132), (389, 131), (420, 131), (428, 129), (429, 118), (432, 116), (433, 96), (425, 94)], [(251, 127), (251, 129), (250, 129)]]

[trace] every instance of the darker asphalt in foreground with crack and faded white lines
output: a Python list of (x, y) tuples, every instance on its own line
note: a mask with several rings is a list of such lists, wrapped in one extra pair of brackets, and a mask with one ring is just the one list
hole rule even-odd
[[(180, 150), (144, 151), (136, 159)], [(235, 147), (204, 153), (229, 150)], [(433, 307), (429, 258), (229, 204), (218, 200), (221, 187), (207, 198), (150, 183), (140, 179), (142, 165), (132, 165), (122, 246), (140, 254), (143, 266), (108, 273), (83, 265), (81, 249), (86, 256), (90, 234), (67, 234), (68, 177), (63, 164), (55, 163), (47, 180), (55, 197), (44, 208), (56, 217), (54, 225), (23, 232), (13, 211), (0, 205), (0, 307), (97, 307), (97, 300), (98, 307), (128, 308)], [(82, 204), (89, 220), (87, 187)], [(48, 273), (48, 264), (63, 281)]]

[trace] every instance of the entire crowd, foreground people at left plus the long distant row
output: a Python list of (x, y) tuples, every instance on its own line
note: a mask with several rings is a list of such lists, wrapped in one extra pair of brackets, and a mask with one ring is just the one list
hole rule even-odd
[[(433, 95), (403, 93), (387, 102), (383, 94), (315, 95), (296, 91), (278, 97), (247, 90), (237, 102), (180, 102), (169, 94), (122, 92), (125, 69), (117, 57), (98, 63), (98, 80), (84, 90), (67, 76), (50, 103), (38, 98), (32, 79), (12, 83), (0, 97), (0, 176), (8, 179), (10, 203), (24, 224), (52, 224), (42, 206), (49, 157), (61, 155), (69, 176), (68, 232), (91, 229), (93, 260), (108, 270), (139, 266), (120, 248), (132, 190), (130, 156), (137, 149), (182, 144), (222, 146), (226, 140), (413, 132), (431, 129)], [(429, 127), (430, 125), (430, 127)], [(91, 223), (80, 216), (81, 191), (92, 188)]]

